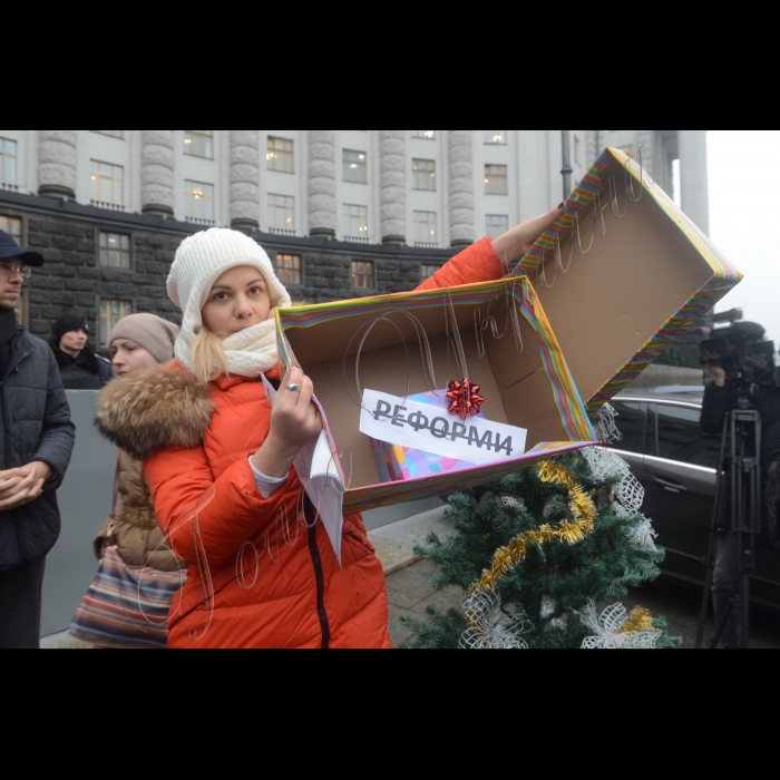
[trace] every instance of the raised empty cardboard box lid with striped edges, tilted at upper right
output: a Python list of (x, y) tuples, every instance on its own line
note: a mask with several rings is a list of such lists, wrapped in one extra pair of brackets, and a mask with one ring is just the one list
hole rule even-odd
[[(695, 325), (742, 275), (618, 149), (604, 152), (566, 207), (516, 273), (536, 282), (544, 265), (539, 298), (579, 393), (594, 411)], [(594, 228), (599, 209), (604, 223), (598, 218)], [(579, 250), (588, 248), (594, 230), (593, 246), (583, 255)]]

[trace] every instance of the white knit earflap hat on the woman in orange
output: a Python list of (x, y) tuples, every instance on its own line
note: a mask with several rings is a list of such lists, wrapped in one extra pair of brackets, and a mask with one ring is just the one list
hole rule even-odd
[(265, 250), (244, 233), (213, 227), (185, 238), (170, 267), (168, 295), (184, 312), (182, 330), (197, 332), (203, 326), (201, 311), (214, 283), (240, 265), (251, 265), (263, 274), (272, 308), (290, 305), (290, 295)]

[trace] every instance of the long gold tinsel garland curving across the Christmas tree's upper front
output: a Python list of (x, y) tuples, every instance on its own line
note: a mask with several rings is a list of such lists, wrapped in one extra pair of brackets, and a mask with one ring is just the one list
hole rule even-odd
[(565, 485), (568, 488), (569, 509), (574, 520), (565, 520), (555, 528), (544, 525), (538, 530), (520, 534), (510, 545), (501, 547), (493, 559), (490, 571), (484, 573), (479, 583), (471, 588), (469, 596), (493, 589), (515, 566), (526, 559), (528, 545), (544, 545), (550, 542), (575, 545), (593, 533), (598, 511), (593, 499), (577, 484), (572, 472), (552, 460), (539, 464), (537, 469), (543, 482)]

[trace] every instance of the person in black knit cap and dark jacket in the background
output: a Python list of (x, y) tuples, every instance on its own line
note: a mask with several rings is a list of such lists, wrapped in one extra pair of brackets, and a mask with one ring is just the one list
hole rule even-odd
[(89, 328), (76, 314), (66, 314), (55, 322), (49, 342), (57, 358), (66, 390), (100, 390), (114, 379), (110, 361), (95, 354), (87, 341)]

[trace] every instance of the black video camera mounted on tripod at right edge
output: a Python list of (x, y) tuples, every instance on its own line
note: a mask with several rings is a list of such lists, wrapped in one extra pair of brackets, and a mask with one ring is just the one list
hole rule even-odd
[(713, 323), (728, 323), (728, 326), (698, 331), (711, 337), (701, 344), (701, 363), (720, 365), (732, 382), (777, 384), (780, 371), (773, 374), (774, 343), (764, 340), (764, 328), (755, 322), (742, 322), (742, 316), (741, 309), (732, 309), (712, 318)]

